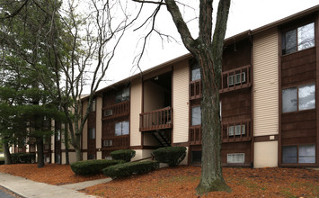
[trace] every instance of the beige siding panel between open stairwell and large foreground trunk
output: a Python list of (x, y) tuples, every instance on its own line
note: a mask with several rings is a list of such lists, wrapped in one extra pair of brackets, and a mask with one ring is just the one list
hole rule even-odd
[(189, 62), (173, 67), (173, 143), (189, 140)]

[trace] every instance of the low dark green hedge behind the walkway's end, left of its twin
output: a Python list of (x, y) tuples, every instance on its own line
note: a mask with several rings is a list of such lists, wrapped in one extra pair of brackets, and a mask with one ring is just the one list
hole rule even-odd
[(71, 169), (75, 175), (97, 175), (102, 174), (102, 169), (105, 167), (124, 162), (123, 160), (91, 159), (72, 163)]

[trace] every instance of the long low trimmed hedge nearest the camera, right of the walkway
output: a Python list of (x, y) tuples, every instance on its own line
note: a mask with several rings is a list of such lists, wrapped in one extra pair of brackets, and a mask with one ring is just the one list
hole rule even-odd
[(159, 167), (156, 161), (128, 162), (124, 164), (109, 166), (103, 169), (103, 174), (112, 179), (127, 177), (134, 174), (146, 174)]

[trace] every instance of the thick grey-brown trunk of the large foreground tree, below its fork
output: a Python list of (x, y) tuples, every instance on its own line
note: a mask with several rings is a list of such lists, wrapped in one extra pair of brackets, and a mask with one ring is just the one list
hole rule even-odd
[[(199, 195), (211, 191), (230, 192), (231, 189), (227, 186), (223, 177), (220, 155), (219, 83), (216, 83), (220, 81), (220, 72), (211, 74), (213, 62), (208, 53), (206, 53), (206, 56), (199, 56), (198, 61), (202, 68), (203, 96), (201, 99), (201, 179), (196, 191)], [(215, 67), (217, 67), (216, 64), (218, 63), (215, 62)]]

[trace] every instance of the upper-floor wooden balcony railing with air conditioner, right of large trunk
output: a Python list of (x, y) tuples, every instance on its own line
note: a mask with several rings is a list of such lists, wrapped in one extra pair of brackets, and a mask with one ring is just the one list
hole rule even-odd
[(222, 73), (221, 89), (219, 93), (230, 92), (252, 85), (252, 67), (247, 65)]

